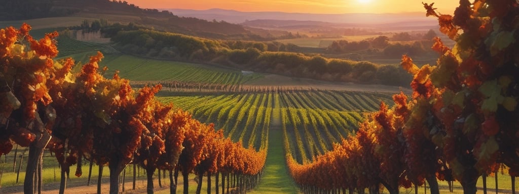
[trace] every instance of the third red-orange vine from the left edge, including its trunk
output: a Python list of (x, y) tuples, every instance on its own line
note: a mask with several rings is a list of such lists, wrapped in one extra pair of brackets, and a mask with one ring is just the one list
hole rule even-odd
[[(134, 97), (128, 80), (104, 78), (98, 63), (99, 52), (81, 68), (76, 78), (79, 93), (84, 95), (84, 115), (81, 116), (82, 147), (87, 158), (97, 165), (110, 168), (110, 193), (118, 192), (120, 172), (132, 160), (146, 126), (140, 113), (153, 99), (155, 92), (141, 92)], [(106, 68), (104, 69), (106, 70)], [(92, 106), (93, 105), (93, 106)]]

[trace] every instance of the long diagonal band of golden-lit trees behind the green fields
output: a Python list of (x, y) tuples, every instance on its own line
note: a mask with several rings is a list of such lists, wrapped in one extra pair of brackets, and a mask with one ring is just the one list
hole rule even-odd
[(299, 78), (407, 86), (411, 76), (397, 66), (290, 52), (293, 44), (212, 40), (149, 29), (121, 30), (112, 37), (122, 52)]

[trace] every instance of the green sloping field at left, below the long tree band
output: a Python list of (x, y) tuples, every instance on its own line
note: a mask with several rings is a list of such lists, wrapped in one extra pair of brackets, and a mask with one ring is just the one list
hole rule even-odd
[(241, 71), (213, 67), (195, 63), (166, 61), (120, 54), (108, 43), (79, 41), (59, 37), (58, 58), (73, 57), (81, 64), (88, 63), (89, 57), (101, 51), (104, 54), (100, 66), (108, 67), (107, 77), (118, 70), (121, 78), (132, 81), (184, 82), (200, 84), (237, 85), (263, 77), (252, 73), (243, 75)]

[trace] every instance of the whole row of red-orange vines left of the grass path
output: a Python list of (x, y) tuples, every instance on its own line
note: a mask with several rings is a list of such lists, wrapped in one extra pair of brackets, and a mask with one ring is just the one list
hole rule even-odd
[(58, 33), (35, 40), (30, 30), (28, 24), (0, 29), (0, 155), (9, 153), (13, 144), (29, 147), (24, 193), (41, 192), (44, 148), (60, 164), (60, 193), (71, 166), (77, 165), (75, 174), (81, 176), (84, 159), (100, 166), (101, 172), (108, 166), (110, 193), (118, 193), (119, 174), (129, 163), (146, 169), (148, 193), (153, 193), (156, 169), (169, 171), (171, 193), (176, 192), (179, 172), (184, 193), (189, 173), (199, 177), (197, 193), (204, 175), (208, 184), (212, 174), (222, 175), (222, 185), (227, 183), (229, 190), (230, 179), (225, 182), (225, 177), (232, 174), (241, 193), (258, 183), (265, 150), (244, 148), (224, 138), (213, 124), (202, 124), (172, 104), (160, 103), (154, 96), (161, 85), (134, 91), (117, 72), (105, 78), (100, 52), (73, 73), (74, 59), (53, 59), (58, 54)]

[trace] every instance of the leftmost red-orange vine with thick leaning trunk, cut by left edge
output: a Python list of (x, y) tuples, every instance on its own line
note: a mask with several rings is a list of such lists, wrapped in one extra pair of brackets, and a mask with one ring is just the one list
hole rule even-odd
[[(43, 148), (50, 140), (51, 126), (56, 115), (50, 107), (49, 95), (55, 82), (64, 79), (70, 66), (54, 65), (58, 50), (54, 38), (58, 33), (46, 34), (39, 41), (29, 32), (31, 26), (22, 24), (20, 29), (0, 29), (0, 74), (2, 87), (2, 151), (8, 153), (8, 137), (21, 146), (29, 146), (29, 158), (24, 180), (24, 192), (34, 192), (34, 180), (40, 180), (37, 166)], [(70, 64), (69, 64), (70, 65)], [(6, 102), (6, 103), (5, 103)], [(40, 184), (40, 182), (38, 182)]]

